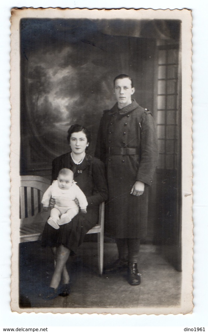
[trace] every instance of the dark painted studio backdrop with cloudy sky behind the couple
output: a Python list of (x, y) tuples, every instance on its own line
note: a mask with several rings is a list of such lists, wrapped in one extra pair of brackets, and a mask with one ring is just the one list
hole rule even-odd
[(21, 175), (50, 179), (52, 160), (69, 151), (71, 124), (92, 134), (114, 103), (113, 79), (132, 77), (133, 98), (157, 125), (159, 160), (150, 190), (147, 238), (181, 269), (180, 22), (22, 19)]

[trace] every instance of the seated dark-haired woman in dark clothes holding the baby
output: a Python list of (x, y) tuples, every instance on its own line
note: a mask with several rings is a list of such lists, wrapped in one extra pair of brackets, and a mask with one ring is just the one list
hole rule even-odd
[[(90, 143), (89, 131), (74, 124), (68, 130), (67, 140), (71, 152), (65, 153), (52, 162), (52, 181), (56, 180), (62, 168), (69, 168), (74, 173), (74, 180), (87, 199), (87, 213), (78, 213), (69, 223), (59, 229), (47, 222), (42, 234), (42, 246), (50, 246), (55, 257), (55, 270), (50, 287), (44, 298), (46, 300), (58, 295), (66, 296), (70, 292), (70, 276), (66, 268), (69, 255), (75, 254), (83, 242), (85, 234), (98, 221), (99, 204), (108, 198), (104, 164), (97, 158), (85, 153)], [(52, 204), (53, 205), (53, 204)], [(60, 284), (62, 278), (62, 284)]]

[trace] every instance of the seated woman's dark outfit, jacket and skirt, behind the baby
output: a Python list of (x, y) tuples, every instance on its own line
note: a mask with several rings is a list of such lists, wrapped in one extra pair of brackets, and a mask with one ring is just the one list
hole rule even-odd
[(102, 161), (87, 154), (83, 162), (76, 165), (69, 152), (53, 160), (52, 181), (57, 179), (62, 168), (69, 168), (74, 172), (74, 180), (87, 198), (87, 213), (79, 212), (72, 221), (60, 226), (59, 229), (54, 229), (46, 222), (42, 234), (42, 246), (58, 247), (62, 244), (76, 253), (85, 234), (98, 221), (99, 204), (108, 198), (105, 170)]

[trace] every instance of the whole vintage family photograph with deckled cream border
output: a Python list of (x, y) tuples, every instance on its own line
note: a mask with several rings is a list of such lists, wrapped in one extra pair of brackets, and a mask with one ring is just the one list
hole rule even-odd
[(11, 309), (190, 313), (191, 12), (13, 9)]

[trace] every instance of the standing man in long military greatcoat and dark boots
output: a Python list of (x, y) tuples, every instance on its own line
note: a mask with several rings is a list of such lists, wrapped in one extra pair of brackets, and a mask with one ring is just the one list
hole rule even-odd
[(106, 272), (128, 271), (130, 285), (139, 285), (137, 261), (145, 235), (148, 186), (157, 163), (157, 136), (151, 112), (132, 99), (132, 79), (114, 79), (117, 103), (100, 121), (95, 156), (105, 163), (109, 187), (106, 233), (116, 239), (119, 259)]

